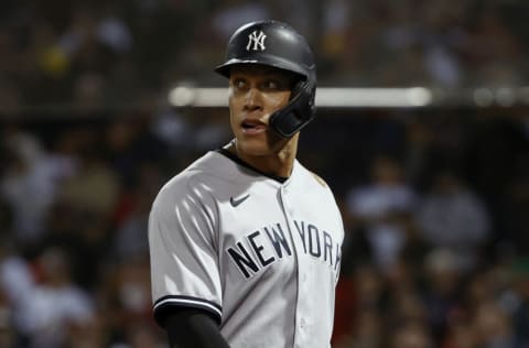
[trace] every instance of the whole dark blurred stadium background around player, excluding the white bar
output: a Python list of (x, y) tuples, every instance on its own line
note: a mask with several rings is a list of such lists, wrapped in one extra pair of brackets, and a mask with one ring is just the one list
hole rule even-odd
[(269, 18), (307, 37), (322, 88), (436, 96), (326, 105), (302, 132), (347, 231), (333, 347), (529, 347), (528, 14), (526, 0), (2, 0), (0, 347), (166, 347), (150, 205), (231, 137), (225, 107), (168, 95), (225, 87), (229, 35)]

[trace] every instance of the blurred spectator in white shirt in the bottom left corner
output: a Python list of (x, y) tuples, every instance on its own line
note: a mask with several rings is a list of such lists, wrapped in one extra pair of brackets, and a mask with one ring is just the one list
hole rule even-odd
[(1, 262), (0, 281), (13, 312), (14, 327), (24, 347), (60, 347), (72, 326), (89, 323), (95, 313), (90, 296), (73, 281), (66, 253), (42, 252), (34, 274), (18, 257)]

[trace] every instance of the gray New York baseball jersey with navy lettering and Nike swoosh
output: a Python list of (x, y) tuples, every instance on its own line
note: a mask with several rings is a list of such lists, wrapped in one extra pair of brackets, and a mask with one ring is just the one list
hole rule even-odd
[(330, 347), (343, 238), (331, 189), (298, 161), (281, 182), (208, 152), (152, 206), (154, 315), (207, 311), (234, 348)]

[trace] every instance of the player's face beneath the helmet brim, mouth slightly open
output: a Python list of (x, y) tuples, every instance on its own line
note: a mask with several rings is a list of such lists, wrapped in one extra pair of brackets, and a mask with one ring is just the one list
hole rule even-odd
[(294, 75), (259, 66), (231, 68), (229, 110), (237, 150), (246, 155), (270, 155), (279, 152), (289, 139), (270, 127), (270, 116), (288, 105)]

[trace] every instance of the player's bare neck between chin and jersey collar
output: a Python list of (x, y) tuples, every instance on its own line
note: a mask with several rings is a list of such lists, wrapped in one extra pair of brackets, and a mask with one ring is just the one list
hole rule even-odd
[(298, 153), (298, 137), (299, 134), (295, 134), (293, 138), (289, 139), (284, 146), (279, 151), (267, 155), (248, 155), (237, 150), (236, 142), (233, 142), (229, 145), (228, 151), (262, 173), (273, 176), (289, 177), (290, 174), (292, 174), (295, 155)]

